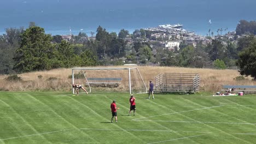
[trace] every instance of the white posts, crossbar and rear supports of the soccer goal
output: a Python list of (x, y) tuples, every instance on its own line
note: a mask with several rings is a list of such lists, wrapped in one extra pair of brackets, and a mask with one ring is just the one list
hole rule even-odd
[[(146, 89), (146, 91), (142, 92), (142, 93), (147, 93), (148, 92), (147, 87), (145, 85), (145, 82), (144, 82), (144, 80), (143, 80), (143, 78), (141, 76), (141, 73), (139, 72), (138, 68), (72, 68), (72, 85), (74, 84), (74, 70), (82, 70), (83, 71), (83, 74), (84, 74), (86, 83), (89, 86), (90, 92), (91, 92), (91, 86), (90, 86), (90, 83), (88, 82), (88, 80), (86, 78), (84, 70), (129, 70), (129, 91), (130, 91), (130, 94), (131, 94), (131, 91), (132, 91), (132, 89), (131, 89), (131, 69), (136, 69), (138, 71), (138, 74), (141, 77), (141, 80), (142, 80), (142, 82), (144, 84), (144, 87)], [(74, 94), (74, 88), (73, 88), (73, 94)]]

